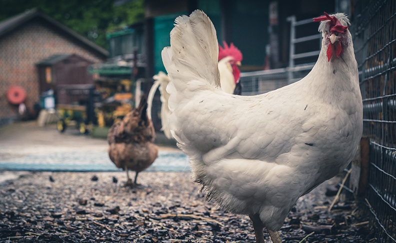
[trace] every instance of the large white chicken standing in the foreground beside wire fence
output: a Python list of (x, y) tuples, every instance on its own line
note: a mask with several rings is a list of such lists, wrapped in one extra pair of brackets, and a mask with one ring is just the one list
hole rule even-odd
[(362, 133), (362, 100), (349, 23), (326, 14), (312, 70), (255, 96), (219, 88), (218, 45), (200, 10), (179, 16), (162, 50), (171, 78), (169, 127), (208, 199), (248, 214), (256, 242), (278, 230), (296, 200), (349, 163)]

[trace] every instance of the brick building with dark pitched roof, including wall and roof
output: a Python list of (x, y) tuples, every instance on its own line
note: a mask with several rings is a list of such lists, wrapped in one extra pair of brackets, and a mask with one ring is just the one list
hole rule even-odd
[[(38, 9), (23, 11), (0, 21), (0, 97), (5, 97), (12, 86), (23, 88), (26, 91), (23, 101), (26, 112), (34, 118), (41, 91), (49, 86), (45, 79), (41, 79), (44, 85), (40, 85), (37, 63), (55, 54), (77, 54), (93, 63), (100, 63), (108, 51)], [(55, 77), (53, 70), (47, 73), (52, 74), (48, 77)], [(57, 83), (59, 78), (56, 77)], [(18, 105), (0, 98), (0, 126), (18, 118)]]

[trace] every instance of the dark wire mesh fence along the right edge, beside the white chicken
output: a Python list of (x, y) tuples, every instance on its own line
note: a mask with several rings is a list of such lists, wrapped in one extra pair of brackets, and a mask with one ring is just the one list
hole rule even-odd
[(376, 242), (396, 241), (396, 1), (356, 0), (352, 36), (369, 137), (365, 204)]

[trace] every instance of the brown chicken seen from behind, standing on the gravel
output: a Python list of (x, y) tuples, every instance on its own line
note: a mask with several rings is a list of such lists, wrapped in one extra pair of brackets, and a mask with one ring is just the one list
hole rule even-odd
[[(158, 156), (158, 147), (152, 142), (155, 131), (147, 116), (147, 98), (142, 96), (139, 106), (111, 126), (107, 134), (108, 156), (118, 168), (126, 171), (126, 185), (135, 185), (137, 174), (146, 169)], [(136, 171), (134, 181), (128, 170)]]

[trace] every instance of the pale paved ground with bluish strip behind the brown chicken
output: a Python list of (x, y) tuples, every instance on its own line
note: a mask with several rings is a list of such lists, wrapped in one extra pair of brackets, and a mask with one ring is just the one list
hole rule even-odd
[[(0, 127), (0, 177), (4, 171), (119, 171), (108, 158), (107, 141), (79, 134), (68, 127), (63, 133), (55, 124), (43, 127), (35, 121)], [(159, 156), (148, 171), (189, 171), (187, 157), (174, 145), (159, 146)], [(1, 172), (2, 171), (2, 172)], [(16, 176), (16, 175), (15, 175)]]

